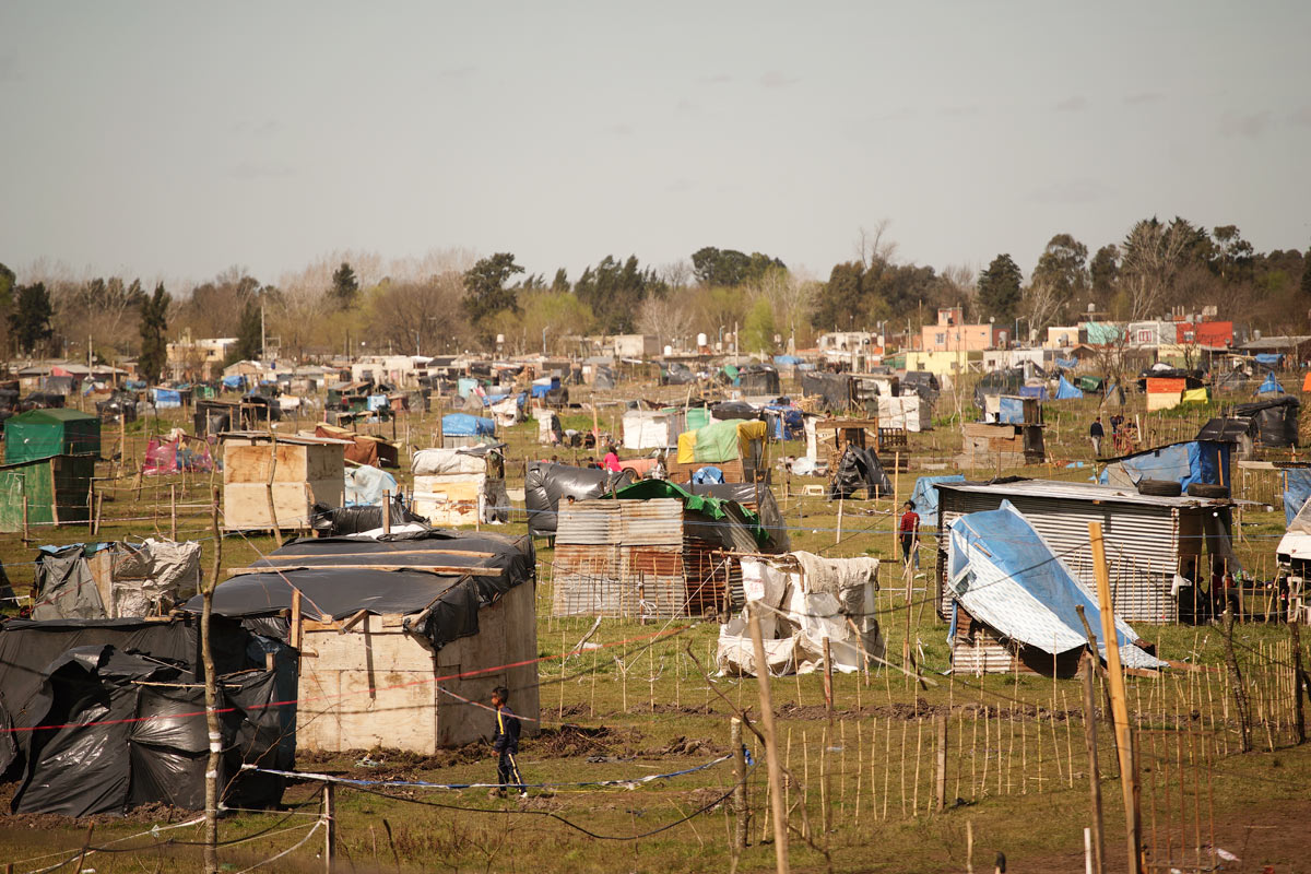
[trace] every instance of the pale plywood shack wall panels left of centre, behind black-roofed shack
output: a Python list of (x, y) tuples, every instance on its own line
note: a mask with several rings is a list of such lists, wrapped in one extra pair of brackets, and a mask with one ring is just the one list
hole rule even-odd
[[(277, 465), (274, 466), (274, 452)], [(341, 506), (345, 455), (340, 443), (236, 443), (223, 448), (223, 528), (308, 528), (313, 504)]]

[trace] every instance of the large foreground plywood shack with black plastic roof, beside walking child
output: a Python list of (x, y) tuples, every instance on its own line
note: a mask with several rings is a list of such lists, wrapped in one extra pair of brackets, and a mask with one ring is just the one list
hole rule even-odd
[[(299, 539), (237, 569), (214, 613), (270, 626), (303, 654), (291, 696), (302, 750), (434, 755), (486, 736), (486, 712), (465, 700), (498, 685), (514, 689), (523, 731), (536, 731), (534, 566), (527, 537)], [(294, 605), (299, 615), (281, 618)]]

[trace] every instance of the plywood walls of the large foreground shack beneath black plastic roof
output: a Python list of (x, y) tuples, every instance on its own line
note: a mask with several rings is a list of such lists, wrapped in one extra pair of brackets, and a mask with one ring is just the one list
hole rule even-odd
[[(405, 633), (400, 616), (368, 616), (347, 633), (307, 628), (302, 638), (296, 744), (340, 752), (375, 747), (434, 755), (443, 747), (492, 735), (494, 715), (458, 698), (488, 704), (492, 689), (510, 689), (510, 708), (538, 718), (538, 666), (461, 672), (531, 662), (538, 655), (535, 592), (531, 582), (511, 588), (479, 611), (479, 633), (433, 653)], [(523, 734), (538, 732), (524, 721)]]

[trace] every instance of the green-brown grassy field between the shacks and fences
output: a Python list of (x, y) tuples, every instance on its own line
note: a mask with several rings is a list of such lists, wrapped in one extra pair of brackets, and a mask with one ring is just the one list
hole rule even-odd
[[(641, 392), (646, 397), (657, 389)], [(962, 393), (964, 394), (964, 393)], [(968, 397), (968, 394), (964, 394)], [(682, 400), (682, 398), (679, 398)], [(1139, 401), (1141, 402), (1141, 401)], [(1066, 480), (1092, 474), (1086, 439), (1092, 401), (1047, 405), (1047, 449), (1053, 464), (1023, 473)], [(603, 406), (602, 430), (617, 434), (620, 408)], [(1186, 439), (1205, 421), (1203, 410), (1179, 415), (1139, 415), (1143, 430), (1160, 440)], [(969, 408), (965, 418), (973, 418)], [(437, 411), (397, 423), (397, 434), (412, 446), (431, 443)], [(794, 549), (827, 556), (894, 554), (895, 498), (909, 494), (914, 478), (954, 469), (960, 432), (956, 401), (944, 396), (940, 427), (911, 435), (910, 474), (898, 480), (894, 498), (851, 501), (843, 508), (838, 536), (836, 506), (818, 497), (797, 498), (806, 484), (793, 478), (784, 498), (775, 493), (792, 528)], [(177, 533), (201, 540), (202, 566), (208, 569), (215, 541), (208, 531), (208, 476), (147, 478), (136, 487), (135, 464), (149, 432), (166, 431), (181, 417), (161, 417), (128, 428), (127, 464), (102, 463), (97, 489), (105, 494), (100, 540), (142, 537), (170, 528), (170, 487), (180, 506)], [(591, 414), (568, 417), (566, 427), (591, 427)], [(382, 432), (391, 435), (391, 425)], [(520, 460), (570, 455), (538, 447), (536, 425), (509, 430), (507, 478), (522, 485)], [(105, 453), (118, 451), (117, 431), (109, 428)], [(800, 443), (771, 447), (775, 455), (798, 455)], [(402, 452), (402, 464), (408, 452)], [(1083, 463), (1084, 466), (1068, 466)], [(965, 472), (988, 477), (996, 470)], [(219, 477), (222, 478), (222, 477)], [(399, 477), (408, 485), (408, 472)], [(1235, 484), (1256, 497), (1269, 484)], [(1257, 498), (1268, 501), (1269, 498)], [(503, 533), (523, 533), (522, 514)], [(1273, 573), (1273, 553), (1283, 531), (1282, 511), (1252, 508), (1244, 514), (1244, 540), (1238, 544), (1244, 565)], [(21, 535), (0, 536), (0, 561), (16, 588), (31, 580), (35, 546), (89, 539), (85, 527), (33, 529), (33, 542)], [(229, 536), (223, 540), (223, 565), (246, 565), (275, 548), (269, 536)], [(534, 789), (526, 802), (488, 798), (485, 790), (367, 788), (337, 790), (338, 865), (341, 870), (496, 870), (548, 871), (722, 871), (770, 870), (773, 866), (771, 827), (766, 811), (763, 750), (753, 736), (747, 746), (755, 761), (747, 774), (749, 846), (738, 854), (730, 836), (734, 816), (725, 797), (734, 785), (730, 763), (695, 773), (641, 781), (705, 765), (725, 756), (729, 719), (759, 714), (756, 680), (707, 676), (718, 626), (695, 620), (653, 624), (607, 620), (591, 638), (602, 647), (560, 659), (591, 626), (583, 618), (551, 617), (551, 550), (538, 544), (538, 647), (543, 723), (539, 736), (526, 740), (520, 763)], [(819, 675), (770, 681), (777, 713), (780, 753), (787, 767), (785, 803), (789, 810), (793, 870), (835, 871), (960, 871), (971, 862), (991, 870), (998, 852), (1009, 870), (1076, 871), (1083, 867), (1083, 828), (1089, 824), (1089, 759), (1084, 748), (1086, 713), (1078, 680), (1040, 676), (965, 677), (947, 674), (947, 626), (929, 603), (932, 550), (924, 548), (924, 577), (914, 580), (907, 601), (899, 573), (884, 575), (880, 612), (889, 659), (899, 664), (903, 642), (916, 656), (920, 676), (884, 668), (868, 675), (834, 679), (831, 710)], [(909, 621), (907, 621), (909, 617)], [(1139, 757), (1145, 844), (1152, 860), (1167, 867), (1209, 867), (1211, 857), (1197, 845), (1224, 848), (1242, 858), (1227, 870), (1306, 870), (1306, 815), (1311, 812), (1304, 785), (1311, 755), (1295, 744), (1289, 633), (1281, 625), (1244, 624), (1236, 628), (1235, 653), (1243, 688), (1255, 718), (1253, 752), (1240, 753), (1239, 722), (1232, 687), (1223, 670), (1223, 637), (1217, 626), (1150, 626), (1137, 630), (1158, 645), (1162, 656), (1198, 666), (1158, 677), (1130, 677), (1129, 698), (1142, 729)], [(1096, 691), (1101, 700), (1100, 688)], [(830, 717), (831, 713), (831, 717)], [(489, 721), (490, 722), (490, 721)], [(947, 810), (936, 810), (940, 722), (947, 725)], [(1096, 721), (1099, 768), (1106, 815), (1108, 867), (1125, 860), (1124, 806), (1116, 774), (1112, 734)], [(490, 725), (489, 725), (490, 732)], [(326, 772), (374, 781), (431, 781), (460, 784), (490, 781), (494, 755), (486, 746), (418, 757), (389, 750), (355, 751), (340, 756), (302, 756), (302, 770)], [(627, 786), (586, 784), (633, 781)], [(8, 799), (13, 786), (0, 788)], [(225, 870), (239, 871), (278, 852), (292, 849), (265, 870), (323, 870), (317, 856), (323, 832), (321, 791), (313, 784), (294, 785), (286, 808), (275, 812), (232, 812), (220, 828), (225, 841)], [(149, 833), (155, 826), (182, 823), (190, 811), (147, 808), (126, 819), (97, 818), (93, 823), (54, 816), (0, 819), (0, 860), (14, 870), (42, 870), (67, 860), (89, 843), (104, 848), (87, 857), (83, 870), (157, 871), (199, 866), (195, 843), (201, 829), (186, 826)], [(88, 828), (92, 831), (88, 832)], [(143, 833), (144, 832), (144, 833)], [(308, 835), (308, 840), (307, 840)], [(1213, 837), (1214, 836), (1214, 837)], [(117, 843), (114, 843), (117, 841)], [(969, 846), (973, 845), (970, 853)], [(33, 858), (50, 854), (47, 858)]]

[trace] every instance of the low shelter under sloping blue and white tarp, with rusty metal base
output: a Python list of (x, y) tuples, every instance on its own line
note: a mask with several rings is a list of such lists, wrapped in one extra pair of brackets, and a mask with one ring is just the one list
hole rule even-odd
[[(1055, 659), (1055, 671), (1071, 675), (1088, 645), (1075, 608), (1083, 607), (1083, 618), (1101, 628), (1096, 596), (1009, 501), (952, 522), (947, 584), (954, 596), (948, 639), (958, 672), (1006, 672), (1015, 662), (1050, 672)], [(1124, 620), (1116, 617), (1114, 628), (1126, 667), (1164, 667), (1137, 646), (1139, 638)], [(996, 659), (998, 649), (1015, 662)], [(1105, 642), (1099, 639), (1097, 649), (1105, 658)]]

